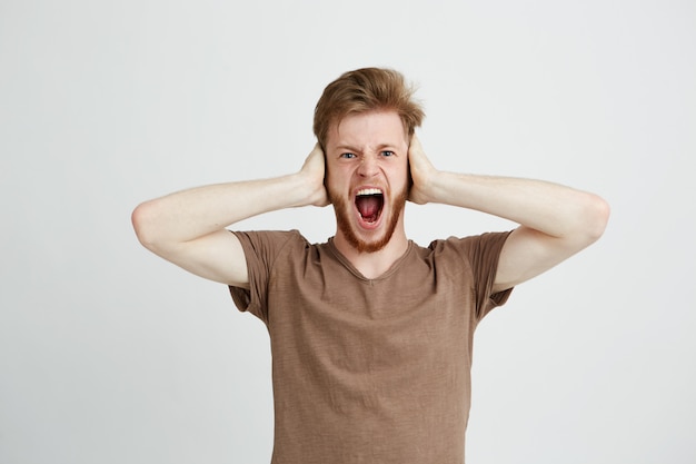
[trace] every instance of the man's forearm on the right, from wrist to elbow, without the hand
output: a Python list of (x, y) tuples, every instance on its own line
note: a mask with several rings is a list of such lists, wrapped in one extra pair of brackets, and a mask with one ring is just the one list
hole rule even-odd
[(599, 237), (608, 214), (596, 195), (541, 180), (436, 171), (427, 200), (509, 219), (548, 236)]

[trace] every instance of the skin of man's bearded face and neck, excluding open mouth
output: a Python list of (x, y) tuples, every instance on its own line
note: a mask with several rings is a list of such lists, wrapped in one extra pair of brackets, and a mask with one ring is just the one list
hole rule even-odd
[[(337, 217), (334, 243), (358, 269), (375, 276), (407, 248), (408, 144), (392, 111), (352, 115), (334, 125), (326, 144), (327, 186)], [(384, 194), (379, 219), (364, 220), (355, 206), (361, 189)]]

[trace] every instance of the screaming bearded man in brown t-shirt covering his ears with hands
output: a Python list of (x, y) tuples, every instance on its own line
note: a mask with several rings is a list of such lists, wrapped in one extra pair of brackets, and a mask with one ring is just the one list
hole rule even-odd
[[(511, 288), (599, 238), (608, 206), (549, 182), (445, 172), (415, 136), (401, 75), (347, 72), (315, 112), (318, 144), (284, 177), (185, 190), (138, 206), (140, 241), (229, 285), (268, 327), (274, 463), (464, 462), (471, 340)], [(510, 219), (513, 231), (410, 241), (404, 206), (439, 203)], [(326, 206), (336, 235), (226, 227)]]

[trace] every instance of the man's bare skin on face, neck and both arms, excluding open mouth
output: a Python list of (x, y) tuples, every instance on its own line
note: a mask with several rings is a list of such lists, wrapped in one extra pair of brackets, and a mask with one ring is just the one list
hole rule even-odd
[[(406, 250), (398, 192), (408, 186), (409, 174), (410, 201), (475, 209), (519, 224), (500, 254), (494, 292), (528, 280), (589, 246), (601, 236), (609, 216), (598, 196), (557, 184), (438, 170), (418, 138), (408, 140), (396, 113), (372, 111), (335, 124), (327, 152), (315, 146), (298, 172), (156, 198), (133, 210), (132, 223), (139, 240), (162, 258), (201, 277), (248, 288), (243, 250), (226, 228), (264, 213), (332, 201), (337, 248), (364, 276), (374, 278)], [(355, 192), (362, 187), (385, 191), (375, 225), (361, 221), (354, 206)], [(380, 241), (370, 251), (359, 245)]]

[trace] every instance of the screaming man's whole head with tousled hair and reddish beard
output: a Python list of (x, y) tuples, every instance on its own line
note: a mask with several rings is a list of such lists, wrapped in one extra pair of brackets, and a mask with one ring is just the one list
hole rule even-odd
[(408, 146), (424, 117), (411, 96), (400, 73), (368, 68), (341, 76), (317, 103), (337, 239), (360, 253), (382, 249), (396, 230), (405, 238)]

